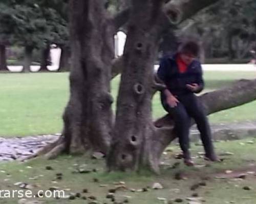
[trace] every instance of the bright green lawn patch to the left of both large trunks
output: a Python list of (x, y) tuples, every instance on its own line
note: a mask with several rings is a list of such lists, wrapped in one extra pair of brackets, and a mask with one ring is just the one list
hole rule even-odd
[(69, 95), (67, 73), (1, 74), (2, 136), (58, 133)]

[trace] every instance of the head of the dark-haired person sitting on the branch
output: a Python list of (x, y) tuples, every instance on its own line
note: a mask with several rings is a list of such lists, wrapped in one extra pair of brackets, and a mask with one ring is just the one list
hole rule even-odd
[(179, 46), (179, 54), (184, 63), (189, 65), (200, 53), (200, 45), (196, 41), (186, 41)]

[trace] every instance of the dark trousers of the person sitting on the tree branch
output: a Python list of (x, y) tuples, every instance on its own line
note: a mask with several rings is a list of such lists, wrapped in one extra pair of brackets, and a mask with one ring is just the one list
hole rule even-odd
[(214, 156), (215, 152), (211, 141), (210, 126), (204, 112), (203, 105), (193, 93), (179, 95), (177, 98), (180, 103), (178, 103), (178, 106), (174, 108), (168, 106), (166, 101), (162, 101), (162, 103), (164, 109), (172, 115), (174, 119), (175, 131), (179, 137), (179, 143), (184, 153), (184, 157), (187, 159), (190, 158), (189, 127), (191, 118), (194, 118), (200, 132), (201, 140), (204, 145), (205, 156)]

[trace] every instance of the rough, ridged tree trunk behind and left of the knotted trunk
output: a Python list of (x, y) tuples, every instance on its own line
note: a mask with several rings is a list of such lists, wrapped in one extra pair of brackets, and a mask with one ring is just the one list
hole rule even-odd
[(112, 130), (110, 94), (114, 24), (101, 0), (70, 1), (70, 99), (63, 114), (68, 152), (106, 153)]

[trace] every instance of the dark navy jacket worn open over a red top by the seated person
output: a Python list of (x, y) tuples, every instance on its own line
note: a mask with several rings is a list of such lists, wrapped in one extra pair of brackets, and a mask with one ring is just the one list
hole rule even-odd
[(176, 58), (177, 54), (174, 56), (165, 56), (161, 59), (157, 71), (159, 79), (163, 81), (173, 95), (191, 93), (186, 87), (186, 84), (193, 83), (197, 83), (200, 86), (196, 93), (201, 92), (204, 88), (201, 63), (198, 60), (194, 60), (184, 73), (180, 73)]

